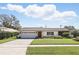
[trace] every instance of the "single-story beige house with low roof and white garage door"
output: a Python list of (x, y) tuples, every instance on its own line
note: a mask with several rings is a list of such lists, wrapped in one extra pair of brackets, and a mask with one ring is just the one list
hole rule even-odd
[(50, 36), (61, 36), (63, 32), (69, 32), (65, 28), (43, 28), (43, 27), (26, 27), (21, 29), (21, 38), (41, 38)]

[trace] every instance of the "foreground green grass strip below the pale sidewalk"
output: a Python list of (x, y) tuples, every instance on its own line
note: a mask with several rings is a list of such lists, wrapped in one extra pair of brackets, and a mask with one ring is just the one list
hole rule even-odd
[(28, 47), (27, 55), (79, 55), (79, 47)]

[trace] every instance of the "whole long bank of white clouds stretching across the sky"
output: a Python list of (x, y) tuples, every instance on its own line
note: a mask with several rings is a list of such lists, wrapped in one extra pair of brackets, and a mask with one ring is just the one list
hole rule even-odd
[(76, 17), (77, 14), (74, 11), (64, 11), (60, 12), (57, 10), (54, 4), (46, 4), (43, 6), (38, 6), (37, 4), (28, 5), (27, 7), (23, 7), (21, 5), (13, 5), (7, 4), (5, 7), (1, 7), (1, 9), (8, 9), (17, 12), (21, 12), (26, 16), (41, 18), (43, 20), (59, 20), (59, 19), (67, 19)]

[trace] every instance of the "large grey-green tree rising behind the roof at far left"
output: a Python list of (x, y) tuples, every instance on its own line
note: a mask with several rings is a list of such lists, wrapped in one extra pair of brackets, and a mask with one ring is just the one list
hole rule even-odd
[(4, 26), (4, 27), (13, 28), (13, 29), (21, 28), (21, 26), (19, 24), (19, 20), (17, 20), (17, 18), (14, 15), (1, 14), (0, 22), (1, 22), (2, 26)]

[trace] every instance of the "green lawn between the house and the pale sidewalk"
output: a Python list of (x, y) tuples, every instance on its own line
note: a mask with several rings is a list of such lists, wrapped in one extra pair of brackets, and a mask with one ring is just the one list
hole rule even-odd
[(59, 45), (59, 44), (79, 44), (79, 41), (74, 41), (72, 39), (64, 38), (64, 39), (50, 39), (50, 38), (44, 38), (44, 39), (35, 39), (31, 43), (32, 45)]

